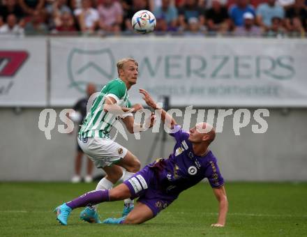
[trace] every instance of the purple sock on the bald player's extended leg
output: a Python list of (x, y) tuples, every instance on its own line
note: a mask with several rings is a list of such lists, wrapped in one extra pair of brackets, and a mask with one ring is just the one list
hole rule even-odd
[(73, 201), (66, 202), (66, 205), (72, 209), (80, 208), (82, 206), (93, 206), (100, 204), (100, 202), (109, 201), (109, 190), (93, 190), (86, 194), (73, 199)]

